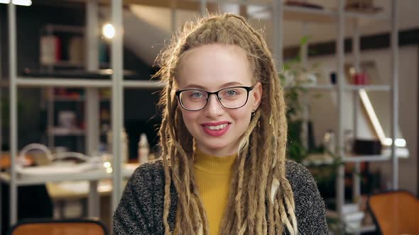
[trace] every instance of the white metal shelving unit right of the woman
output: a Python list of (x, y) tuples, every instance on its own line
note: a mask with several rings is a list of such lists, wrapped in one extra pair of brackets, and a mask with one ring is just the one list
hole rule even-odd
[[(395, 0), (391, 1), (391, 16), (372, 15), (366, 13), (356, 13), (356, 12), (346, 12), (344, 11), (344, 0), (337, 0), (337, 10), (327, 10), (327, 9), (312, 9), (312, 8), (302, 8), (298, 6), (283, 6), (281, 3), (277, 3), (274, 0), (273, 4), (273, 25), (274, 28), (274, 38), (279, 38), (280, 40), (274, 40), (276, 45), (273, 46), (276, 50), (274, 54), (278, 57), (282, 55), (282, 41), (281, 41), (281, 28), (283, 21), (287, 18), (292, 20), (299, 20), (305, 23), (310, 21), (315, 21), (316, 23), (336, 23), (337, 25), (337, 40), (336, 40), (336, 57), (337, 57), (337, 85), (323, 85), (323, 86), (304, 86), (308, 90), (315, 91), (335, 91), (337, 92), (337, 113), (338, 113), (338, 130), (337, 130), (337, 154), (341, 157), (341, 161), (345, 163), (355, 163), (356, 171), (359, 172), (360, 163), (364, 161), (393, 161), (393, 188), (398, 188), (398, 157), (396, 157), (396, 145), (392, 145), (391, 154), (381, 154), (379, 156), (345, 156), (344, 154), (344, 127), (343, 127), (343, 117), (344, 117), (344, 92), (352, 91), (354, 97), (357, 97), (358, 91), (383, 91), (391, 92), (392, 103), (391, 106), (392, 112), (392, 139), (396, 139), (397, 136), (397, 126), (398, 126), (398, 26), (397, 26), (397, 4)], [(276, 9), (278, 8), (278, 9)], [(278, 12), (283, 12), (283, 18), (278, 18), (275, 14)], [(281, 14), (281, 13), (280, 13)], [(368, 19), (371, 21), (389, 21), (391, 22), (391, 52), (392, 52), (392, 70), (393, 70), (393, 79), (391, 84), (388, 85), (347, 85), (345, 84), (345, 75), (344, 75), (344, 35), (345, 35), (345, 25), (347, 23), (354, 23), (354, 37), (353, 37), (353, 54), (354, 54), (354, 67), (356, 71), (360, 71), (360, 33), (359, 33), (359, 19)], [(279, 20), (279, 23), (276, 21)], [(307, 52), (307, 46), (302, 48), (303, 51)], [(305, 56), (305, 58), (304, 58)], [(307, 53), (303, 55), (303, 62), (307, 61)], [(281, 67), (282, 59), (278, 60), (277, 67)], [(357, 110), (357, 103), (354, 101), (354, 110)], [(305, 115), (308, 115), (306, 113)], [(355, 112), (354, 115), (357, 115)], [(303, 117), (304, 118), (304, 117)], [(356, 130), (357, 123), (354, 119), (354, 130)], [(356, 134), (356, 133), (355, 133)], [(344, 166), (339, 166), (338, 168), (338, 177), (337, 177), (337, 190), (336, 190), (336, 205), (337, 213), (339, 217), (342, 218), (342, 206), (344, 205)], [(354, 198), (359, 197), (360, 193), (360, 178), (357, 174), (354, 174)], [(374, 226), (361, 227), (358, 231), (355, 231), (356, 234), (364, 231), (374, 231)]]

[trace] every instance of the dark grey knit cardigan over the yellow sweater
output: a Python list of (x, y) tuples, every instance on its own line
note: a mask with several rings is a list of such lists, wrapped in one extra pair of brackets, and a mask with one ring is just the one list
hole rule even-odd
[[(294, 161), (286, 161), (285, 175), (294, 192), (299, 234), (328, 234), (325, 204), (310, 172)], [(164, 234), (164, 169), (161, 160), (136, 169), (129, 179), (114, 213), (114, 234)], [(175, 227), (178, 194), (170, 186), (168, 224)]]

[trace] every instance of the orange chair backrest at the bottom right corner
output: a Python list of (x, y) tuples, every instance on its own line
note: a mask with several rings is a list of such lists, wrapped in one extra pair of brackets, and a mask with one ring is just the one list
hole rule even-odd
[(367, 203), (381, 234), (419, 234), (419, 200), (408, 191), (377, 193)]

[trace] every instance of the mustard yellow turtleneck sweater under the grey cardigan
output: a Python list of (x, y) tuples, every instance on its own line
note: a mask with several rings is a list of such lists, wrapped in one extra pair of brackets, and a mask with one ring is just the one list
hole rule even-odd
[(195, 151), (194, 173), (198, 191), (209, 224), (209, 234), (219, 234), (224, 210), (227, 207), (232, 166), (237, 155), (211, 156)]

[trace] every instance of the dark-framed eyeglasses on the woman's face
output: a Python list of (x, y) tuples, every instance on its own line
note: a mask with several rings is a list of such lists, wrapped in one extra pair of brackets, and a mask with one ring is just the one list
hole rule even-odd
[(180, 105), (185, 110), (202, 110), (207, 105), (209, 96), (212, 94), (217, 96), (218, 102), (224, 108), (235, 109), (246, 105), (249, 99), (249, 92), (253, 88), (254, 86), (232, 86), (214, 92), (200, 89), (185, 89), (176, 91), (175, 94), (178, 96)]

